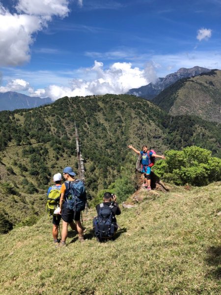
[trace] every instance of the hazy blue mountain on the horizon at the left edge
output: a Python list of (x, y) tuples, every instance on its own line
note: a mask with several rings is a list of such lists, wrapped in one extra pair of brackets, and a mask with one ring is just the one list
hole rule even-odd
[(30, 109), (49, 103), (52, 103), (52, 99), (50, 97), (30, 97), (14, 91), (0, 93), (0, 111)]

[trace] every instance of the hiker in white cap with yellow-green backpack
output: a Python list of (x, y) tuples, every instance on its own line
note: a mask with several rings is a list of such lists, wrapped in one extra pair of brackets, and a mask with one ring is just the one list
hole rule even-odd
[[(56, 209), (56, 206), (59, 205), (60, 200), (60, 189), (61, 189), (61, 174), (57, 173), (53, 177), (53, 181), (55, 182), (55, 185), (50, 186), (48, 189), (48, 202), (47, 202), (47, 208), (50, 215), (53, 215), (52, 223), (52, 235), (54, 238), (55, 245), (58, 245), (60, 242), (60, 239), (58, 239), (58, 228), (61, 220), (60, 214), (55, 214), (54, 210)], [(53, 195), (52, 195), (53, 194)], [(73, 222), (70, 223), (72, 230), (77, 231), (76, 224)]]

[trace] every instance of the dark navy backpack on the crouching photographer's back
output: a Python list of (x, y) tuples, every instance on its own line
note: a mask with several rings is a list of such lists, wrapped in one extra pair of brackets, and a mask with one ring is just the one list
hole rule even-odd
[(104, 206), (103, 203), (100, 204), (100, 211), (94, 222), (95, 236), (98, 237), (99, 240), (114, 236), (116, 226), (112, 220), (112, 208), (114, 207), (112, 204), (113, 203), (111, 203), (110, 206)]

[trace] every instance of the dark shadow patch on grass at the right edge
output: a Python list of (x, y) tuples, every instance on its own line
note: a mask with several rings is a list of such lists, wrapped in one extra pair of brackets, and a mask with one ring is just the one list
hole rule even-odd
[(221, 245), (211, 246), (207, 249), (206, 263), (209, 266), (217, 266), (210, 274), (217, 279), (221, 279)]

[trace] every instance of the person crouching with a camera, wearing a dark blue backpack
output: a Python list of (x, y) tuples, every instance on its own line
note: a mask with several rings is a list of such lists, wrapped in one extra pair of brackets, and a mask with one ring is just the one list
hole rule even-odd
[(121, 214), (115, 195), (106, 192), (103, 201), (96, 206), (97, 217), (93, 220), (93, 228), (98, 241), (114, 236), (118, 229), (115, 215)]

